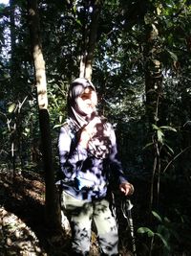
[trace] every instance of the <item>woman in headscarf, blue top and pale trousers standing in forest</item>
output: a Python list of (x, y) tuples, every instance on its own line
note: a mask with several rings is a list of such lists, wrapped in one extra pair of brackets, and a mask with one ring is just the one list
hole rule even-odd
[(109, 180), (125, 196), (133, 186), (117, 160), (116, 135), (96, 112), (96, 88), (76, 79), (68, 93), (68, 120), (60, 129), (58, 148), (63, 174), (62, 206), (72, 228), (74, 255), (88, 255), (95, 222), (101, 255), (118, 255), (117, 220), (111, 207)]

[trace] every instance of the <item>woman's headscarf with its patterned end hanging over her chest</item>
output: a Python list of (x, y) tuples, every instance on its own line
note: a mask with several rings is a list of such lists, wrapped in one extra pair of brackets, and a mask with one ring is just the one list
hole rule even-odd
[(78, 78), (71, 83), (67, 99), (69, 120), (72, 122), (74, 130), (78, 132), (85, 128), (95, 116), (100, 118), (101, 122), (97, 124), (96, 135), (89, 141), (87, 150), (97, 158), (105, 158), (112, 147), (110, 140), (111, 127), (106, 122), (106, 118), (98, 116), (96, 109), (90, 117), (85, 115), (77, 105), (77, 98), (87, 87), (91, 87), (96, 92), (94, 84), (87, 79)]

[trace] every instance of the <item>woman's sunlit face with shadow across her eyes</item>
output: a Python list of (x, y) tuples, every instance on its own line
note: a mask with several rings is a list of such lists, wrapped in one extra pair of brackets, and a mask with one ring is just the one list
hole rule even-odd
[(77, 105), (81, 112), (90, 115), (96, 110), (97, 96), (96, 91), (87, 87), (84, 92), (77, 98)]

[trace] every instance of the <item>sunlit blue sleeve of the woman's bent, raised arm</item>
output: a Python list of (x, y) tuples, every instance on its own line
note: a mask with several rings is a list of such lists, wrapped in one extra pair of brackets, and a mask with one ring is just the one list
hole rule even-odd
[(87, 158), (87, 151), (80, 145), (76, 145), (71, 151), (74, 134), (66, 127), (60, 129), (58, 138), (58, 151), (60, 169), (64, 178), (74, 179), (77, 171), (81, 169), (83, 161)]

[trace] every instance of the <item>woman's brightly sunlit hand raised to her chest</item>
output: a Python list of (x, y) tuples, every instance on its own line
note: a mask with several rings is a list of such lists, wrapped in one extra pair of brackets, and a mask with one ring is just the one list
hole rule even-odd
[(96, 125), (100, 123), (100, 118), (95, 117), (85, 128), (82, 129), (79, 137), (79, 145), (81, 145), (84, 149), (88, 148), (88, 142), (96, 134)]

